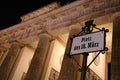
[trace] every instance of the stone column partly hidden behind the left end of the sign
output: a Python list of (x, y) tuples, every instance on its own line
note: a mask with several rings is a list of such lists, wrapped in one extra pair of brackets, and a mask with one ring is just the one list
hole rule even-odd
[[(73, 35), (77, 34), (80, 32), (80, 29), (72, 29), (69, 34), (69, 39), (67, 42), (66, 50), (65, 50), (65, 55), (63, 58), (62, 66), (61, 66), (61, 71), (59, 75), (58, 80), (77, 80), (78, 76), (78, 65), (77, 63), (73, 60), (73, 58), (69, 58), (67, 54), (69, 53), (70, 46), (71, 46), (71, 40), (70, 38), (73, 37)], [(80, 61), (80, 57), (78, 55), (73, 56), (78, 62)]]

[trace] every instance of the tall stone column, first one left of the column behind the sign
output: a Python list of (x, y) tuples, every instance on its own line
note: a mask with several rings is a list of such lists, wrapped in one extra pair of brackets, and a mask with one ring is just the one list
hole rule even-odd
[(41, 80), (42, 70), (44, 68), (49, 46), (50, 36), (46, 34), (40, 35), (40, 40), (33, 55), (25, 80)]

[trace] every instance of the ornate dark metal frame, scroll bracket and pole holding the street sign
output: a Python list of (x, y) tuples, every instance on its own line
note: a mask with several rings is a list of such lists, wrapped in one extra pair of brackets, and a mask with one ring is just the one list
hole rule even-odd
[[(86, 22), (85, 22), (85, 26), (82, 27), (82, 31), (80, 31), (78, 34), (74, 35), (72, 38), (70, 38), (70, 40), (73, 40), (73, 38), (75, 38), (75, 37), (77, 37), (77, 36), (90, 34), (90, 33), (93, 32), (93, 29), (97, 29), (98, 31), (105, 31), (105, 33), (106, 33), (106, 32), (109, 32), (108, 29), (105, 29), (105, 28), (102, 28), (102, 29), (97, 28), (97, 27), (96, 27), (96, 24), (93, 24), (93, 21), (94, 21), (94, 20), (88, 20), (88, 21), (86, 21)], [(105, 35), (105, 37), (106, 37), (106, 35)], [(71, 46), (72, 46), (72, 44), (71, 44)], [(107, 50), (108, 50), (108, 48), (105, 47), (105, 50), (99, 51), (99, 53), (98, 53), (98, 54), (95, 56), (95, 58), (89, 63), (88, 66), (87, 66), (87, 57), (88, 57), (89, 53), (88, 53), (88, 52), (82, 53), (82, 55), (83, 55), (82, 67), (81, 67), (81, 69), (78, 69), (78, 70), (81, 72), (81, 78), (80, 78), (80, 80), (85, 80), (86, 71), (87, 71), (87, 69), (89, 68), (89, 66), (94, 62), (94, 60), (99, 56), (100, 53), (105, 53), (105, 51), (107, 51)], [(68, 55), (68, 57), (70, 57), (70, 58), (72, 58), (72, 56), (73, 56), (73, 55), (70, 55), (70, 53), (67, 54), (67, 55)]]

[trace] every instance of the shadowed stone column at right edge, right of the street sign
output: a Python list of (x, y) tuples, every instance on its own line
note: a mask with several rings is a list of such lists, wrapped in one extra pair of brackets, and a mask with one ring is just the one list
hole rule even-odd
[(113, 20), (111, 80), (120, 80), (120, 15)]

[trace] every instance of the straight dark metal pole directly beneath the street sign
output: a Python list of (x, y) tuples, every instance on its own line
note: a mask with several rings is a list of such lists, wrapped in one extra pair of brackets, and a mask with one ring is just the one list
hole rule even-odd
[(85, 80), (85, 78), (86, 78), (87, 56), (88, 56), (88, 53), (83, 53), (83, 61), (82, 61), (81, 79), (80, 80)]

